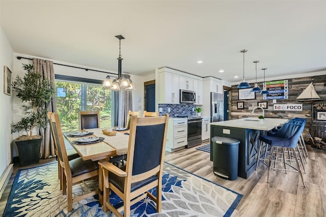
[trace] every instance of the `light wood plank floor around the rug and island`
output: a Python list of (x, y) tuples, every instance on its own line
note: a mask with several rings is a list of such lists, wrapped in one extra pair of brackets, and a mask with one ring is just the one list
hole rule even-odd
[[(207, 144), (208, 142), (203, 142)], [(232, 216), (326, 216), (326, 150), (307, 146), (309, 151), (307, 174), (304, 179), (307, 188), (297, 172), (271, 171), (267, 183), (267, 168), (259, 164), (249, 179), (238, 177), (234, 181), (216, 177), (209, 153), (196, 147), (173, 153), (166, 152), (166, 162), (216, 182), (243, 195)], [(53, 159), (41, 160), (40, 164), (54, 162)], [(35, 165), (33, 165), (35, 166)], [(0, 213), (3, 214), (14, 177), (14, 172), (0, 200)]]

